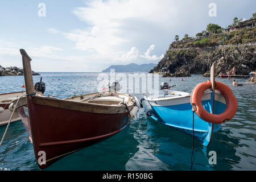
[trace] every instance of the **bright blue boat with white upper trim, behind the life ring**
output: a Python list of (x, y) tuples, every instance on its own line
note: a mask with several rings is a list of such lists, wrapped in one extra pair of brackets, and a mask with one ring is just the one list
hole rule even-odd
[[(225, 98), (218, 91), (214, 96), (214, 114), (221, 114), (226, 109)], [(212, 91), (205, 91), (201, 101), (204, 109), (213, 113)], [(155, 121), (192, 135), (193, 111), (190, 93), (169, 89), (159, 90), (144, 96), (142, 105)], [(194, 114), (194, 137), (204, 146), (209, 145), (213, 132), (220, 129), (221, 124), (206, 122)]]

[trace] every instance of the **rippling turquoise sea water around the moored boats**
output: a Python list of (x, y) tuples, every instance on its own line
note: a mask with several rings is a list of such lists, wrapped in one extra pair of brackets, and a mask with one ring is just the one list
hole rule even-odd
[[(97, 73), (41, 73), (48, 94), (59, 98), (73, 94), (96, 92)], [(54, 79), (54, 80), (52, 80)], [(60, 80), (58, 80), (60, 79)], [(208, 78), (200, 75), (184, 78), (160, 78), (176, 85), (175, 90), (191, 92)], [(213, 134), (209, 147), (194, 143), (194, 170), (255, 170), (256, 169), (256, 85), (246, 78), (236, 78), (243, 86), (232, 86), (232, 80), (216, 78), (232, 88), (238, 100), (234, 118), (222, 124)], [(24, 90), (23, 76), (0, 77), (0, 93)], [(139, 99), (143, 94), (135, 94)], [(6, 126), (0, 127), (0, 137)], [(190, 170), (192, 138), (171, 127), (148, 118), (140, 109), (130, 125), (104, 142), (77, 151), (57, 161), (46, 170)], [(209, 151), (216, 151), (217, 164), (209, 164)], [(0, 147), (0, 170), (40, 170), (32, 144), (21, 121), (11, 123)]]

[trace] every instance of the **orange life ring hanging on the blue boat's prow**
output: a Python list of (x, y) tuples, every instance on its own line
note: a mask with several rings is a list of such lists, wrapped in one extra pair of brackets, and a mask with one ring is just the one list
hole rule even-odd
[(237, 98), (233, 95), (232, 89), (220, 81), (215, 81), (215, 89), (220, 91), (226, 101), (226, 109), (221, 114), (212, 114), (204, 109), (201, 97), (205, 90), (211, 86), (210, 80), (196, 85), (191, 94), (191, 104), (195, 108), (195, 113), (204, 121), (220, 124), (234, 117), (237, 112)]

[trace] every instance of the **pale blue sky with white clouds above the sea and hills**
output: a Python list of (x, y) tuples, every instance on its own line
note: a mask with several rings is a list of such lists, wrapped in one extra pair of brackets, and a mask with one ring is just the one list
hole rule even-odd
[(36, 72), (157, 64), (175, 35), (195, 36), (209, 23), (225, 28), (255, 7), (253, 0), (1, 1), (0, 65), (22, 67), (20, 48)]

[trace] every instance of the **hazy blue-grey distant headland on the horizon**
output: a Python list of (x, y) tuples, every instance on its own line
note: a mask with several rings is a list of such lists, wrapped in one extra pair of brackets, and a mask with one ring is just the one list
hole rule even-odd
[(110, 69), (115, 69), (115, 72), (149, 72), (156, 64), (127, 64), (127, 65), (111, 65), (109, 68), (104, 69), (102, 72), (110, 72)]

